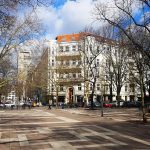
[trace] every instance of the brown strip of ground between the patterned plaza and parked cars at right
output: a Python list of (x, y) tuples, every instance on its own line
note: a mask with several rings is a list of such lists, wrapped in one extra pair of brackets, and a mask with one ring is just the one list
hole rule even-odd
[[(87, 108), (66, 108), (61, 109), (72, 114), (86, 115), (92, 117), (101, 117), (101, 109), (87, 109)], [(103, 118), (113, 119), (114, 121), (142, 121), (141, 112), (137, 108), (123, 109), (123, 108), (104, 108)], [(147, 115), (147, 121), (150, 122), (150, 114)]]

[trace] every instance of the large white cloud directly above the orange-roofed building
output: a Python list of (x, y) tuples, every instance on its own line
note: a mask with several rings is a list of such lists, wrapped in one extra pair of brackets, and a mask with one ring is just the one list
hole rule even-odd
[(76, 33), (93, 24), (92, 10), (95, 1), (67, 1), (60, 8), (39, 7), (37, 14), (47, 29), (47, 38), (60, 34)]

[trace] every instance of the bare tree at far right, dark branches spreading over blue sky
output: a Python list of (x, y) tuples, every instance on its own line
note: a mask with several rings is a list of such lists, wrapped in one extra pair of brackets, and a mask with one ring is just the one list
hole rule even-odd
[[(145, 69), (149, 70), (150, 68), (150, 14), (147, 11), (147, 8), (149, 9), (150, 7), (150, 2), (147, 0), (113, 0), (113, 6), (104, 6), (103, 4), (97, 3), (95, 5), (96, 19), (99, 21), (103, 20), (112, 25), (115, 35), (118, 36), (120, 31), (124, 35), (123, 44), (126, 45), (126, 49), (132, 54), (136, 68), (138, 68), (137, 76), (140, 78), (138, 83), (140, 85), (142, 105), (144, 107), (143, 97), (145, 85), (149, 84), (149, 81), (144, 82), (147, 77), (143, 73)], [(137, 19), (135, 15), (135, 8), (137, 7), (140, 13), (140, 19)], [(110, 11), (112, 12), (111, 14)], [(119, 36), (118, 39), (120, 39)], [(131, 66), (129, 70), (135, 73), (135, 70), (133, 68), (131, 69)], [(135, 75), (133, 79), (137, 80)], [(143, 121), (145, 121), (144, 113)]]

